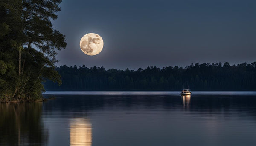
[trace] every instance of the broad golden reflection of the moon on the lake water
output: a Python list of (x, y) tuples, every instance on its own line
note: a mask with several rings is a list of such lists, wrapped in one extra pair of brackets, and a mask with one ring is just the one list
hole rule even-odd
[(92, 125), (88, 119), (75, 119), (70, 122), (70, 146), (91, 146)]

